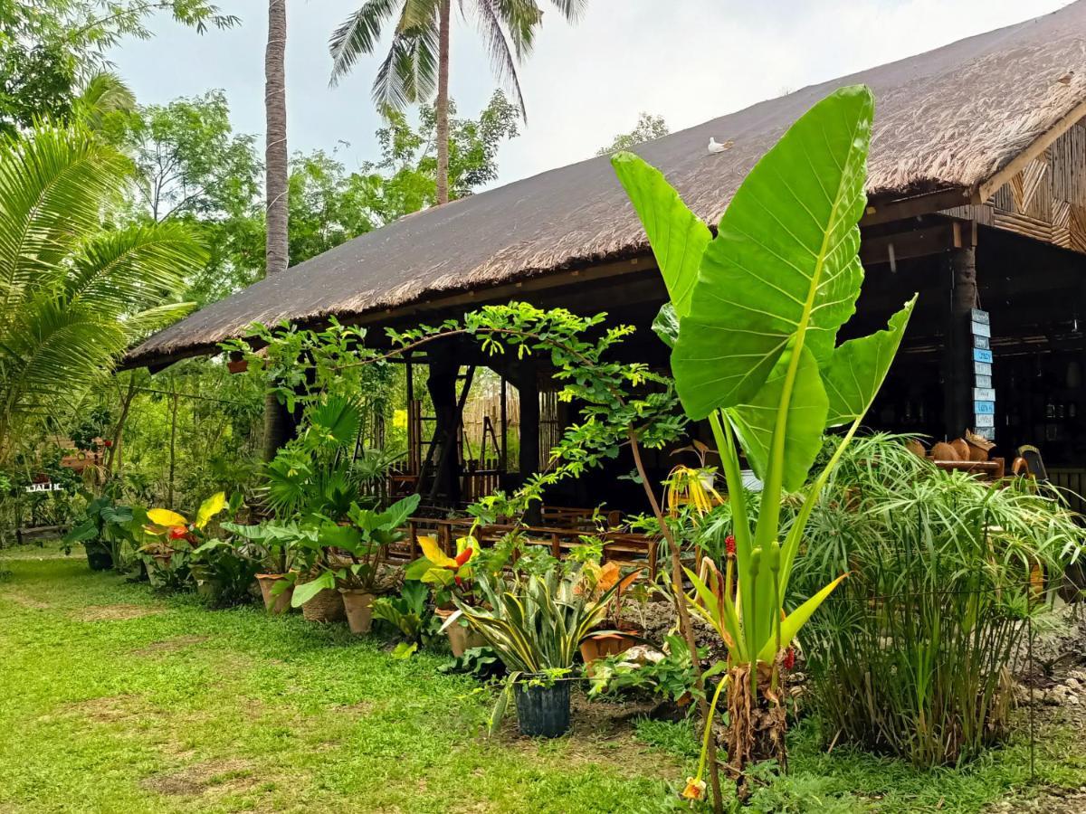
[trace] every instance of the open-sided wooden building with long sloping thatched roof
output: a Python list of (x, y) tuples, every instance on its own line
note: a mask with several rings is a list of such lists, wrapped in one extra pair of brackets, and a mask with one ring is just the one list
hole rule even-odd
[[(867, 282), (846, 330), (869, 332), (914, 291), (918, 310), (872, 424), (934, 437), (967, 428), (1011, 454), (1039, 446), (1063, 482), (1086, 473), (1086, 0), (842, 77), (641, 145), (712, 224), (785, 128), (843, 85), (876, 98)], [(707, 150), (709, 139), (725, 145)], [(645, 330), (630, 353), (666, 364), (647, 330), (665, 300), (644, 232), (606, 157), (402, 218), (255, 283), (135, 348), (162, 368), (214, 353), (254, 322), (435, 322), (489, 302), (607, 311)], [(989, 334), (989, 335), (984, 335)], [(980, 352), (980, 353), (977, 353)], [(457, 371), (434, 347), (438, 424), (455, 425)], [(520, 468), (539, 459), (540, 371), (518, 387)], [(994, 391), (994, 393), (993, 393)], [(994, 407), (992, 406), (994, 403)], [(451, 476), (451, 473), (450, 473)]]

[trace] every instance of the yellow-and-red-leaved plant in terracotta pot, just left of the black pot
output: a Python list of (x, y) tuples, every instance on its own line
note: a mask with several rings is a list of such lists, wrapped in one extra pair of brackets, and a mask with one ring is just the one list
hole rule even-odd
[[(484, 644), (482, 636), (471, 629), (466, 619), (457, 614), (452, 599), (452, 592), (455, 589), (462, 601), (473, 605), (479, 544), (472, 536), (457, 538), (455, 557), (442, 551), (433, 536), (420, 535), (418, 544), (422, 548), (422, 557), (407, 567), (404, 577), (433, 586), (434, 613), (442, 621), (441, 629), (449, 637), (453, 657), (459, 659), (466, 651)], [(454, 615), (456, 619), (450, 622)]]

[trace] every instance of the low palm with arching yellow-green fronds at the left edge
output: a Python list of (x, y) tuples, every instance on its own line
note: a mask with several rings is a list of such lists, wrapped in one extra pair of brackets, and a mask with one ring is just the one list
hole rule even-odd
[(205, 253), (180, 224), (117, 227), (131, 162), (86, 127), (0, 143), (0, 465), (78, 404), (125, 348), (189, 310)]

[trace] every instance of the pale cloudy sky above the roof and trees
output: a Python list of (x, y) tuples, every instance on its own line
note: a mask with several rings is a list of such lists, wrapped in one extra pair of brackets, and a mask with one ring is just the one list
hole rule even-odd
[[(1047, 14), (1066, 0), (589, 0), (569, 25), (550, 0), (520, 68), (528, 122), (503, 147), (498, 182), (586, 158), (641, 111), (672, 131), (782, 92)], [(235, 129), (264, 132), (266, 0), (217, 0), (241, 17), (198, 35), (156, 20), (151, 40), (110, 59), (143, 104), (226, 91)], [(288, 0), (291, 151), (339, 150), (349, 168), (376, 157), (380, 119), (369, 90), (380, 58), (329, 87), (331, 30), (362, 0)], [(454, 9), (457, 4), (454, 3)], [(454, 12), (455, 14), (455, 12)], [(495, 87), (470, 21), (452, 35), (451, 93), (476, 115)]]

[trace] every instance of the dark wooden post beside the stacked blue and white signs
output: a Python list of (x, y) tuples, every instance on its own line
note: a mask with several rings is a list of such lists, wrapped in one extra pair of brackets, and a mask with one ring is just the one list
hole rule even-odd
[(943, 424), (947, 440), (960, 437), (973, 422), (973, 366), (970, 321), (980, 307), (976, 250), (963, 246), (948, 255), (950, 313), (943, 357)]

